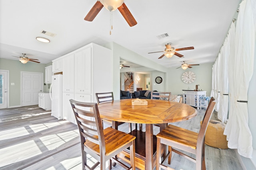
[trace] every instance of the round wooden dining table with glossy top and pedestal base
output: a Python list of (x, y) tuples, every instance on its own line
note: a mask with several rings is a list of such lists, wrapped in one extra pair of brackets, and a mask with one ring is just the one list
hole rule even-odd
[[(197, 111), (187, 104), (167, 100), (145, 99), (148, 102), (148, 105), (145, 106), (133, 106), (132, 100), (136, 99), (114, 100), (98, 104), (100, 117), (113, 121), (113, 125), (114, 121), (146, 124), (144, 137), (146, 139), (144, 139), (145, 155), (142, 154), (140, 158), (145, 158), (144, 169), (152, 170), (156, 164), (156, 154), (153, 149), (154, 145), (156, 145), (153, 137), (153, 124), (160, 124), (161, 131), (166, 127), (167, 123), (191, 119), (196, 116)], [(131, 132), (131, 134), (138, 135), (142, 134), (142, 132)], [(136, 137), (136, 139), (138, 140), (139, 137)], [(141, 166), (138, 168), (143, 169)]]

